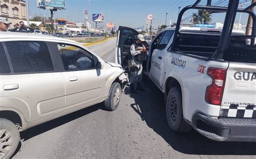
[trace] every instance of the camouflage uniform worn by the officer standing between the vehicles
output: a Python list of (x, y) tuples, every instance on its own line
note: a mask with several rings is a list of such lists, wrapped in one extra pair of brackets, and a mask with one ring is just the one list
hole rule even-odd
[(130, 67), (131, 66), (136, 66), (138, 69), (137, 71), (131, 71), (130, 74), (130, 82), (135, 83), (135, 82), (142, 82), (142, 63), (143, 61), (136, 61), (135, 56), (141, 54), (140, 50), (137, 50), (138, 47), (144, 47), (142, 44), (138, 44), (137, 42), (134, 42), (134, 44), (131, 46), (130, 52), (131, 52), (131, 62), (130, 62)]

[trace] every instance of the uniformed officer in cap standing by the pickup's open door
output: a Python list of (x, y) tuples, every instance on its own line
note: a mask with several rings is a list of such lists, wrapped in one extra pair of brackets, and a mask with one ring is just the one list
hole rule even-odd
[[(130, 92), (138, 93), (138, 91), (145, 91), (142, 88), (142, 70), (143, 70), (143, 61), (146, 60), (145, 56), (147, 56), (147, 48), (143, 45), (143, 41), (145, 41), (144, 36), (142, 34), (137, 35), (134, 44), (132, 44), (130, 48), (131, 52), (131, 62), (130, 62)], [(137, 88), (134, 88), (134, 84), (137, 83)]]

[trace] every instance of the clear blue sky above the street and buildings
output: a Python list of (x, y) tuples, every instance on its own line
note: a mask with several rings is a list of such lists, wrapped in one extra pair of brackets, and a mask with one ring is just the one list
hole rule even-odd
[[(50, 17), (50, 10), (39, 9), (36, 6), (36, 0), (27, 0), (29, 2), (30, 17), (46, 15)], [(90, 1), (90, 7), (89, 7)], [(89, 10), (89, 19), (92, 19), (92, 13), (105, 13), (104, 23), (98, 25), (106, 26), (106, 23), (114, 23), (115, 26), (128, 26), (132, 28), (143, 27), (146, 28), (147, 15), (153, 15), (153, 28), (158, 28), (160, 24), (167, 25), (170, 21), (176, 22), (179, 12), (179, 6), (183, 9), (186, 5), (191, 5), (196, 0), (66, 0), (66, 9), (58, 10), (56, 18), (64, 18), (73, 23), (84, 22), (84, 10)], [(212, 0), (213, 4), (227, 5), (225, 0)], [(247, 0), (250, 2), (250, 0)], [(240, 2), (247, 3), (246, 0)], [(201, 4), (206, 4), (206, 0), (202, 0)], [(248, 4), (249, 5), (249, 4)], [(183, 18), (189, 17), (195, 10), (185, 13)], [(167, 14), (167, 20), (166, 19)], [(236, 21), (240, 16), (237, 16)], [(212, 17), (212, 22), (223, 22), (224, 15), (216, 14)], [(241, 23), (246, 24), (247, 16), (242, 15)], [(189, 20), (186, 22), (189, 23)], [(91, 27), (95, 27), (95, 23), (91, 23)]]

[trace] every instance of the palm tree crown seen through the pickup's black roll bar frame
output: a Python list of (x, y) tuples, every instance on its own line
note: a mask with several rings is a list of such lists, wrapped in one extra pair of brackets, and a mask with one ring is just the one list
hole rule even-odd
[(210, 23), (212, 21), (212, 15), (206, 10), (198, 10), (198, 13), (193, 13), (193, 21), (197, 24)]

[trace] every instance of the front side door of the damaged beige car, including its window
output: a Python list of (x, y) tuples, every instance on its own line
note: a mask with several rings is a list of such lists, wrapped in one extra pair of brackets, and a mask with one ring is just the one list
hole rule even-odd
[(104, 72), (96, 69), (97, 57), (80, 46), (64, 43), (56, 46), (66, 86), (66, 109), (100, 99), (105, 78)]

